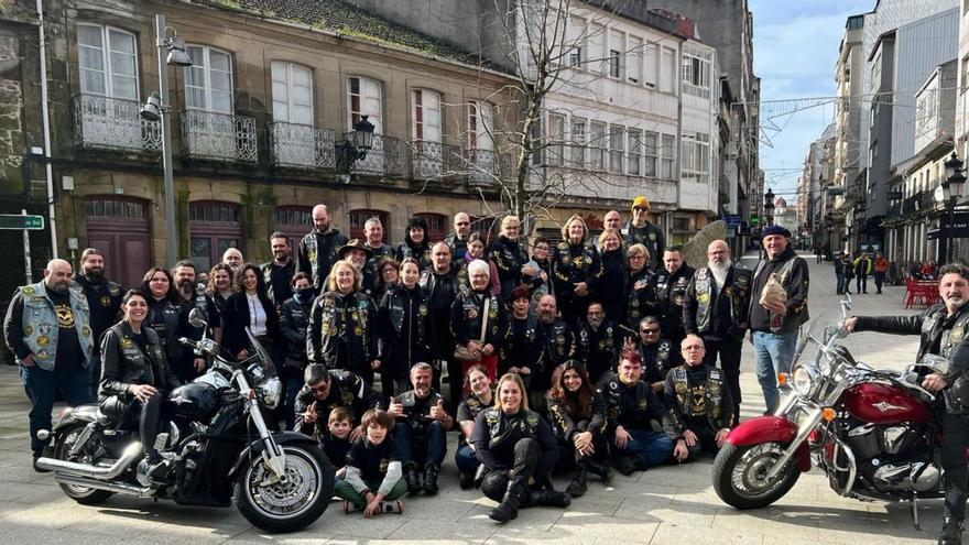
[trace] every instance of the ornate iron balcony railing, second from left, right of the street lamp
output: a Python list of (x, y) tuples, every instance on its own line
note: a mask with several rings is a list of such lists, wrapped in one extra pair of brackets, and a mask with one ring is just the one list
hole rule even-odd
[(255, 163), (255, 119), (214, 111), (182, 112), (182, 152), (190, 159)]

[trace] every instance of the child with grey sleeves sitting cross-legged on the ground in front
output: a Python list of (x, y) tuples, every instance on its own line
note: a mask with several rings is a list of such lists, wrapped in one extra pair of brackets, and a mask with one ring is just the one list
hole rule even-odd
[(407, 491), (407, 483), (396, 444), (388, 437), (394, 418), (386, 411), (371, 408), (363, 413), (361, 425), (364, 436), (350, 447), (347, 475), (337, 481), (336, 495), (346, 500), (345, 512), (362, 509), (368, 519), (382, 512), (403, 513), (404, 502), (398, 499)]

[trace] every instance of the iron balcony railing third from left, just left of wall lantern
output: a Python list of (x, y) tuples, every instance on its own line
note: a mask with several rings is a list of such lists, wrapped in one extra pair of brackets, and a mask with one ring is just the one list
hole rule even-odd
[(336, 168), (334, 132), (308, 124), (269, 123), (270, 157), (273, 166), (290, 168)]

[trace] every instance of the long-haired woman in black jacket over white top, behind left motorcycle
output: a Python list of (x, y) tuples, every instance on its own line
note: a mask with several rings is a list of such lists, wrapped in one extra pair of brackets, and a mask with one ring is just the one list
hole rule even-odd
[[(265, 293), (265, 281), (259, 266), (246, 263), (236, 276), (236, 293), (226, 301), (222, 344), (232, 356), (246, 359), (252, 347), (246, 328), (269, 353), (280, 339), (280, 316)], [(275, 363), (275, 362), (274, 362)]]

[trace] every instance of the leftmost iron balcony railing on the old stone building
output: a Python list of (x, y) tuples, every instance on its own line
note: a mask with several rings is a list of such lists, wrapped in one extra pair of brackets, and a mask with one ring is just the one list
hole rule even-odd
[(74, 142), (78, 148), (157, 152), (162, 123), (141, 119), (137, 100), (74, 96)]

